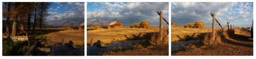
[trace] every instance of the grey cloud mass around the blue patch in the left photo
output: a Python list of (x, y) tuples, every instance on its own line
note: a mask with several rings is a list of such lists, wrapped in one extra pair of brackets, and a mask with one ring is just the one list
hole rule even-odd
[[(59, 5), (66, 6), (66, 8), (72, 9), (64, 9), (65, 13), (57, 13), (57, 12), (48, 12), (51, 16), (48, 17), (47, 22), (59, 22), (63, 20), (72, 20), (84, 22), (84, 3), (83, 2), (56, 2)], [(54, 11), (57, 11), (57, 7)], [(62, 10), (62, 9), (59, 9)]]

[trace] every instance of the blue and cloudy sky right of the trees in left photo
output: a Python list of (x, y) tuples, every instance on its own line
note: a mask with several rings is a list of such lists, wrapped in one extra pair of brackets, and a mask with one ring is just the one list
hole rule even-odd
[(52, 2), (47, 17), (48, 24), (64, 20), (84, 22), (84, 2)]

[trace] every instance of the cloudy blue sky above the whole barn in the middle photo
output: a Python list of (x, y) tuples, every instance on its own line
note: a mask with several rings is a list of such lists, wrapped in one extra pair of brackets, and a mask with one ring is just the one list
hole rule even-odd
[(168, 2), (87, 2), (87, 20), (147, 21), (150, 26), (159, 26), (159, 15), (156, 12), (163, 11), (168, 20), (168, 5)]

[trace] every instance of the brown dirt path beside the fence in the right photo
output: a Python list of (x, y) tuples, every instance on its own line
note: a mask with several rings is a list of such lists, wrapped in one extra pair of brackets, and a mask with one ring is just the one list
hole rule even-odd
[(172, 55), (247, 55), (253, 56), (253, 38), (249, 32), (240, 31), (221, 41), (214, 46), (201, 46), (194, 50), (178, 52)]

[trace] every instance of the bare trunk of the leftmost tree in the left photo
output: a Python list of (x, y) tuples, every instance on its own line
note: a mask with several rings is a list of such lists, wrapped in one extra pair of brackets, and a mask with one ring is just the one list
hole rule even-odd
[(11, 2), (8, 2), (8, 8), (7, 8), (7, 24), (6, 24), (6, 33), (10, 34), (10, 28), (11, 28), (11, 23), (10, 23), (10, 10), (11, 9)]

